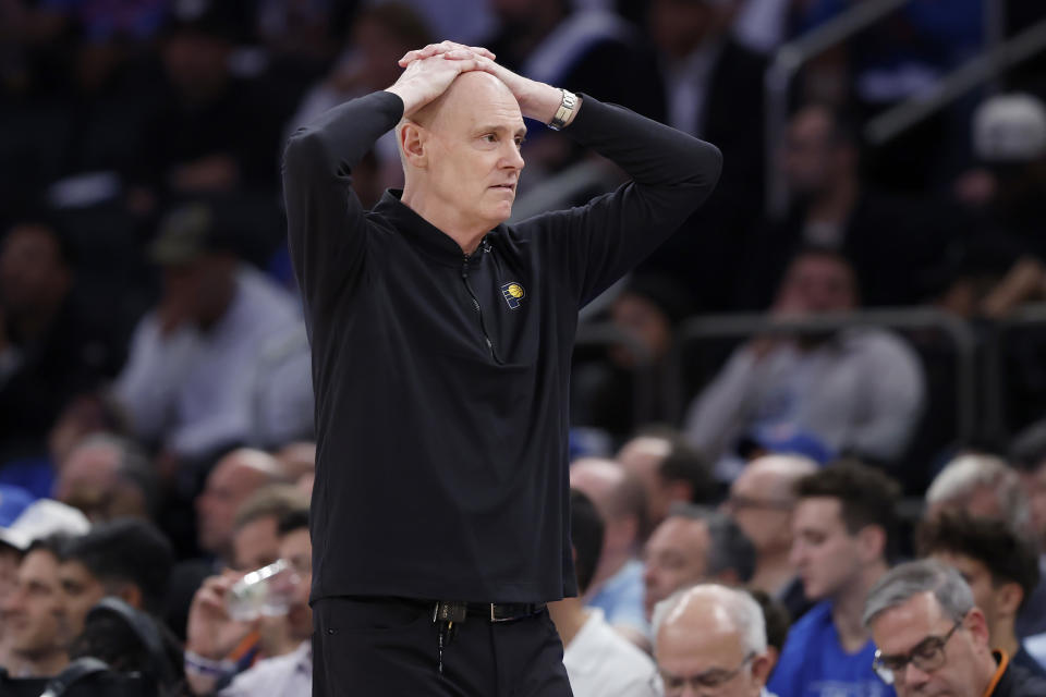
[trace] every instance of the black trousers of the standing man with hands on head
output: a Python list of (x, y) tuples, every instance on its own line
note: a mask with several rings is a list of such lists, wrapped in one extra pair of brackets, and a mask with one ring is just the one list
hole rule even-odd
[(563, 645), (543, 611), (470, 616), (442, 651), (435, 603), (324, 598), (313, 603), (313, 697), (572, 697)]

